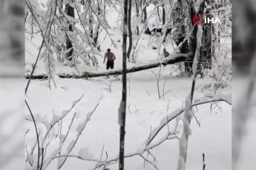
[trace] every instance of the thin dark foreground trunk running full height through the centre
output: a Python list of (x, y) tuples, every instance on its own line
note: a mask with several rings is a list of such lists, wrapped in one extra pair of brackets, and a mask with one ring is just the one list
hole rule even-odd
[[(129, 8), (131, 8), (131, 0)], [(128, 1), (124, 2), (124, 24), (122, 28), (122, 100), (118, 109), (118, 123), (120, 126), (119, 139), (119, 170), (125, 169), (125, 117), (126, 117), (126, 39), (127, 39), (127, 12)], [(130, 11), (131, 13), (131, 11)], [(131, 21), (131, 15), (130, 19)], [(130, 25), (131, 26), (131, 25)]]

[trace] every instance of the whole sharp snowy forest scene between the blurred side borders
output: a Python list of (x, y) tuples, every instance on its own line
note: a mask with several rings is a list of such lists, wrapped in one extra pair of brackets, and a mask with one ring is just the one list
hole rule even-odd
[(25, 0), (26, 170), (231, 170), (231, 0)]

